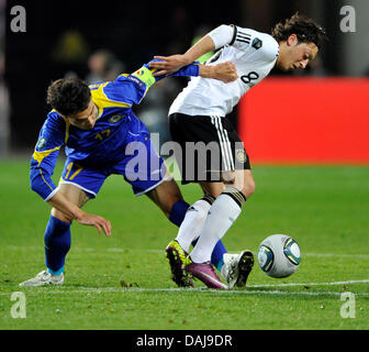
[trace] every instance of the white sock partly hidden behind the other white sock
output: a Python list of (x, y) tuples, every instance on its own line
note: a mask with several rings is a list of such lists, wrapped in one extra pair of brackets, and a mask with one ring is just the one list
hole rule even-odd
[(176, 238), (177, 242), (186, 252), (189, 252), (191, 242), (200, 235), (201, 230), (205, 223), (209, 209), (213, 201), (214, 198), (211, 196), (205, 196), (195, 201), (187, 210)]

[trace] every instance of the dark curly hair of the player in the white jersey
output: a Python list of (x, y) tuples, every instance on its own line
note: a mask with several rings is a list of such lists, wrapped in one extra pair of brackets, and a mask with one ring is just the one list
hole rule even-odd
[(327, 35), (323, 28), (316, 24), (312, 19), (297, 12), (284, 23), (279, 22), (271, 31), (272, 37), (278, 42), (287, 41), (291, 34), (298, 36), (301, 43), (314, 43), (318, 48), (322, 42), (327, 40)]

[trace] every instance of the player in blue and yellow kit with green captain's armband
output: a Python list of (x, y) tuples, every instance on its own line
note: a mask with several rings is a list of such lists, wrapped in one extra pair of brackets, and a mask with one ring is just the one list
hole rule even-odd
[[(154, 77), (153, 72), (146, 64), (114, 81), (87, 86), (78, 78), (64, 78), (48, 87), (47, 102), (53, 110), (41, 129), (30, 173), (31, 188), (52, 206), (44, 233), (46, 270), (20, 286), (64, 283), (72, 220), (111, 235), (109, 220), (81, 208), (98, 195), (112, 174), (122, 175), (136, 196), (147, 195), (171, 222), (177, 226), (182, 222), (189, 205), (168, 175), (163, 158), (155, 153), (146, 127), (132, 111), (155, 81), (165, 77)], [(223, 81), (237, 78), (231, 63), (219, 66), (193, 63), (172, 76), (199, 75)], [(56, 187), (52, 175), (62, 146), (67, 160)], [(219, 249), (225, 252), (221, 242)]]

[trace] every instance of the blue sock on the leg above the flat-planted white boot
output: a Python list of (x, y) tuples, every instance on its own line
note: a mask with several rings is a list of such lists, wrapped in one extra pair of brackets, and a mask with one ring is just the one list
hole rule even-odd
[(65, 257), (70, 249), (70, 223), (49, 217), (45, 235), (45, 264), (54, 275), (64, 272)]

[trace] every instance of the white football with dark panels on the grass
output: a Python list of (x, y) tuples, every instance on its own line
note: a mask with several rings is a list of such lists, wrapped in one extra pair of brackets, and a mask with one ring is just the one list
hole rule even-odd
[(288, 277), (299, 267), (301, 252), (299, 244), (287, 234), (266, 238), (258, 249), (258, 264), (271, 277)]

